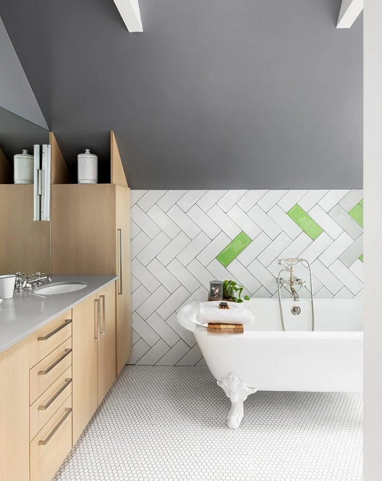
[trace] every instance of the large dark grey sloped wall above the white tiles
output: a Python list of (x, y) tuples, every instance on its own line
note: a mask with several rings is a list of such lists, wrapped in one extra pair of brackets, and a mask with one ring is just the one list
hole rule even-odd
[[(341, 0), (0, 0), (66, 160), (108, 157), (135, 189), (362, 187), (362, 16)], [(33, 20), (33, 21), (31, 21)], [(36, 62), (39, 59), (40, 62)]]

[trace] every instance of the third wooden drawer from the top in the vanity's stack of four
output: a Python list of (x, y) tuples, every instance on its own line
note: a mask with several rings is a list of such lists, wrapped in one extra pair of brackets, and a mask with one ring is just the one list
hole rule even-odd
[(71, 394), (71, 366), (30, 407), (30, 440)]

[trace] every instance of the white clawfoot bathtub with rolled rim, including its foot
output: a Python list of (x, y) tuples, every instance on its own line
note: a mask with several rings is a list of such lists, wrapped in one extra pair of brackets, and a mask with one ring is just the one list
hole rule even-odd
[[(301, 314), (293, 315), (298, 305)], [(199, 301), (183, 306), (177, 320), (194, 332), (209, 370), (231, 400), (228, 427), (239, 427), (248, 394), (265, 391), (362, 391), (362, 300), (310, 299), (246, 302), (255, 323), (243, 334), (214, 334), (198, 321)]]

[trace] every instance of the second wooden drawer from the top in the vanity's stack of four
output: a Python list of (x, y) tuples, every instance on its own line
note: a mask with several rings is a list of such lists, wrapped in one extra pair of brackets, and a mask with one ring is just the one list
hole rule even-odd
[(71, 337), (29, 371), (30, 404), (71, 365)]

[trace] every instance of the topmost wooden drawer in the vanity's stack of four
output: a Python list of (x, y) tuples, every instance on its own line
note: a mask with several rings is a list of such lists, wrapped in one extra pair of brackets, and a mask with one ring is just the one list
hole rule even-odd
[(71, 336), (71, 310), (29, 337), (29, 367), (33, 367)]

